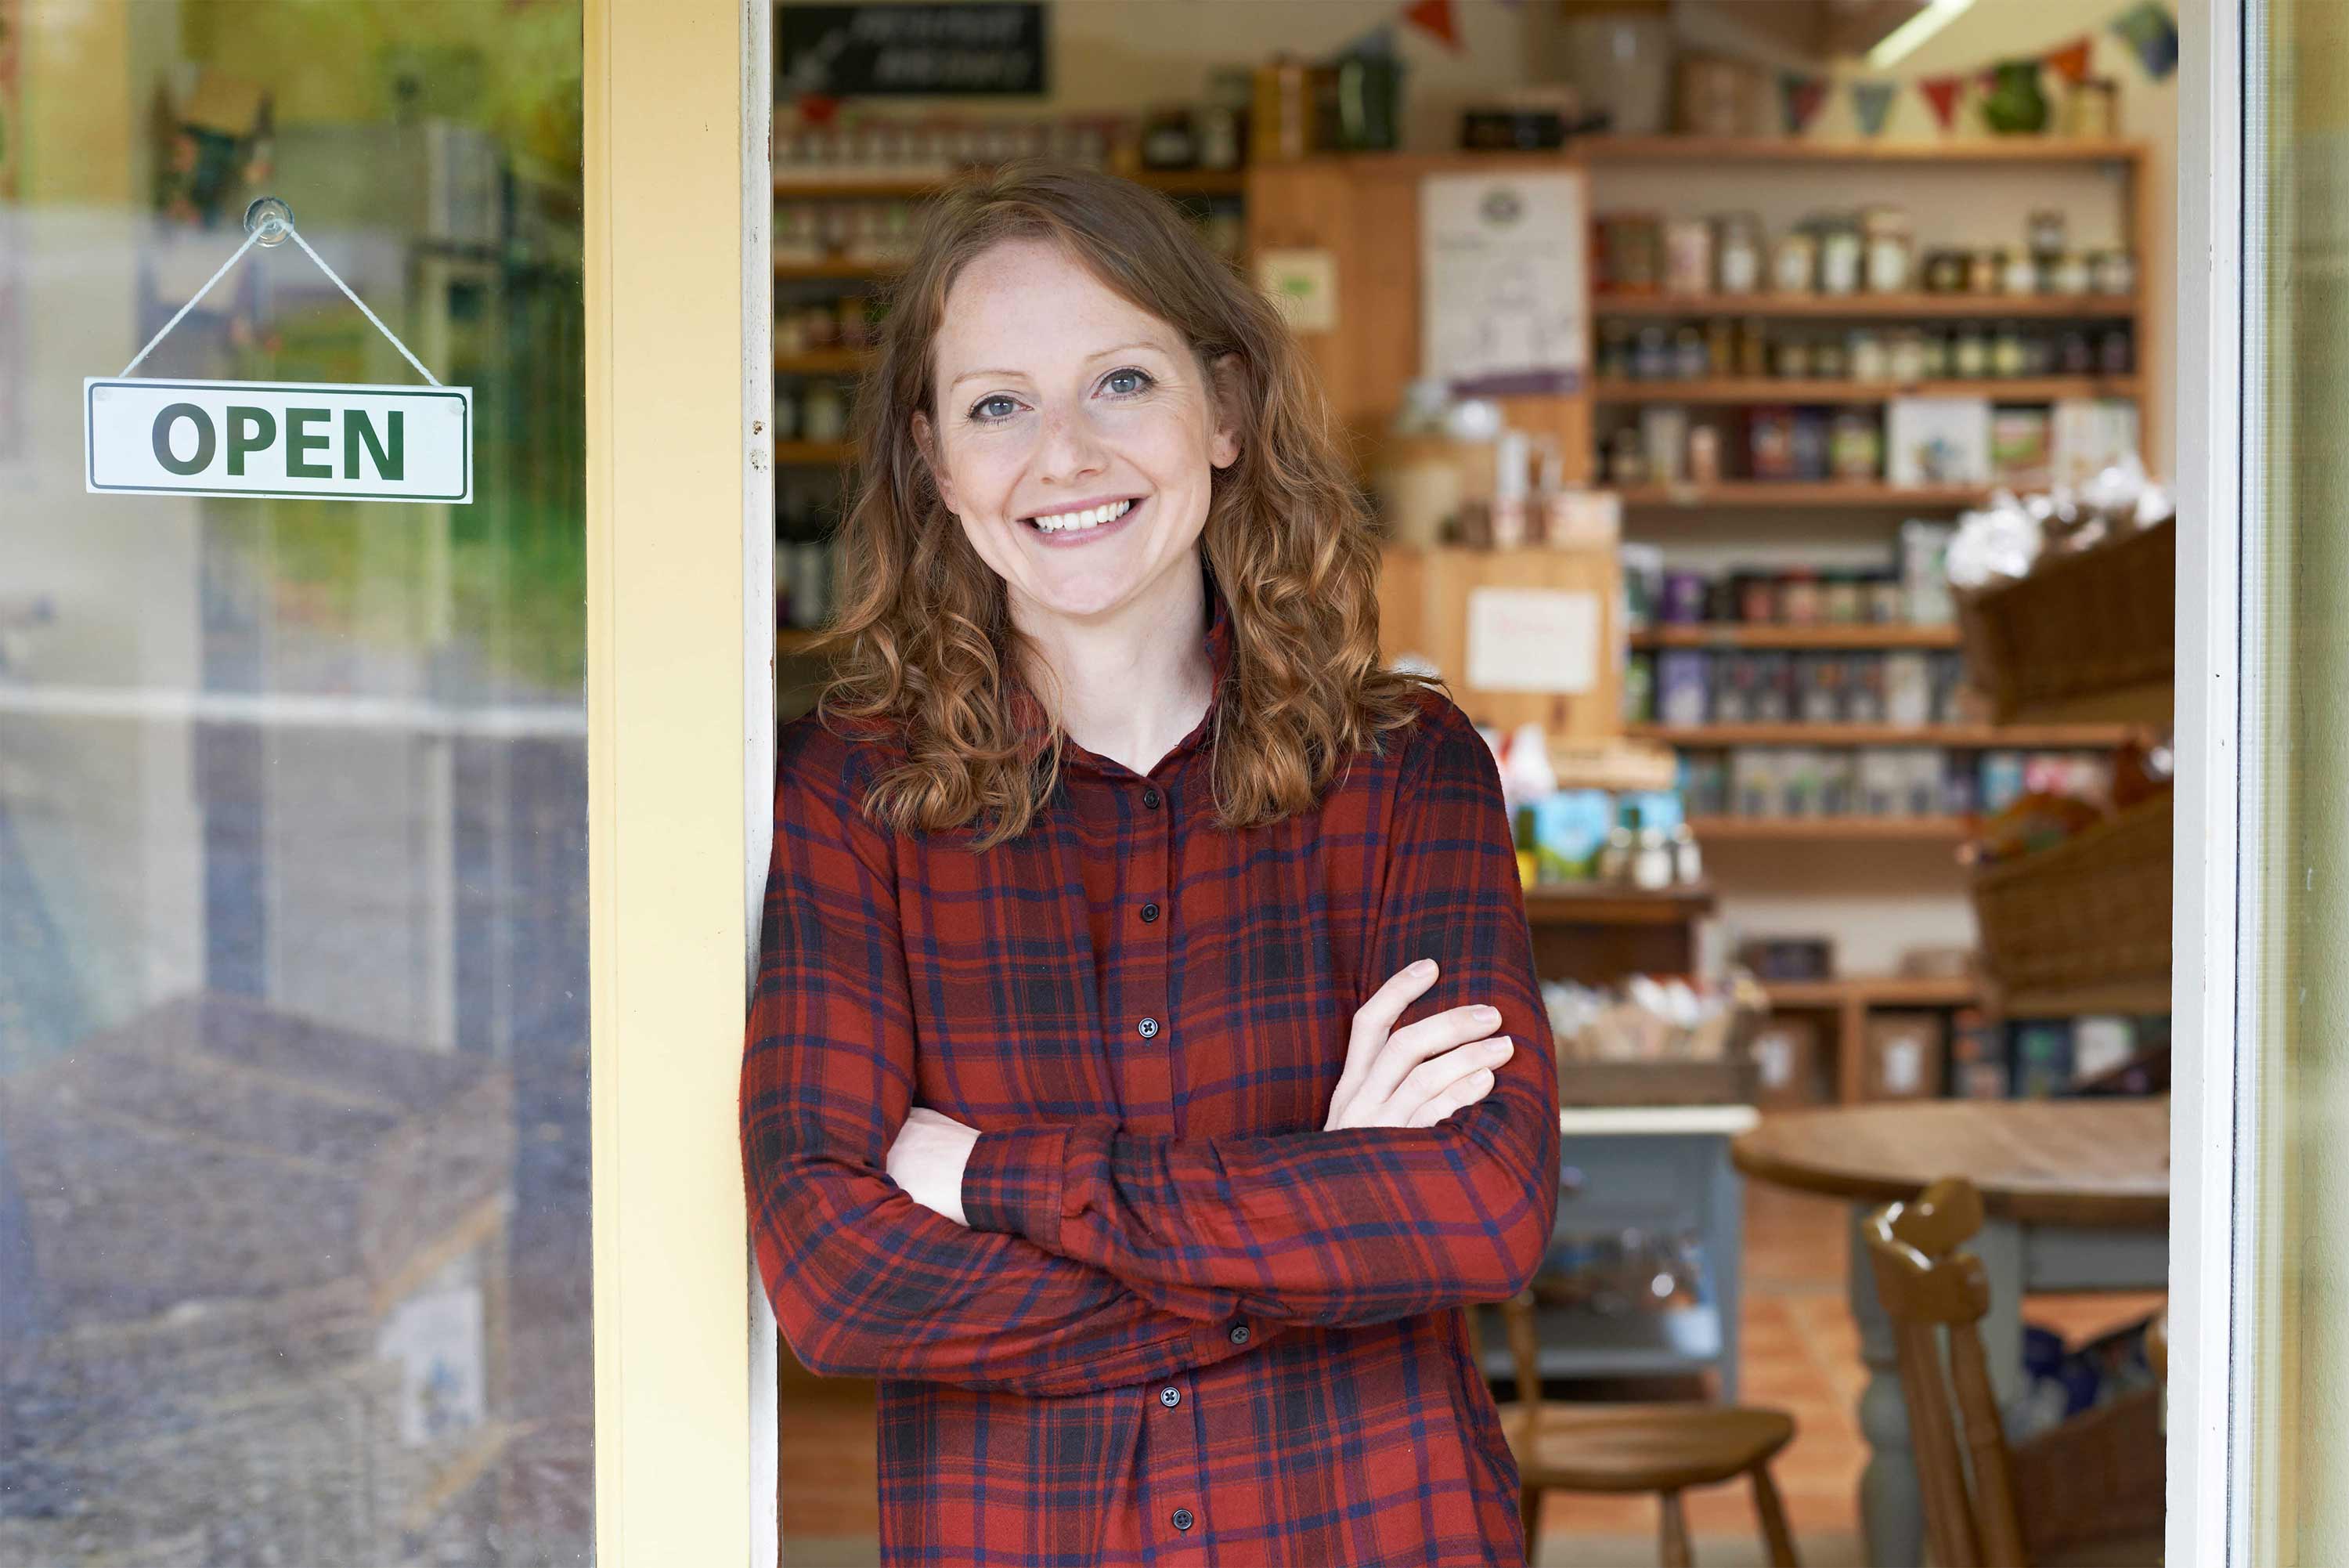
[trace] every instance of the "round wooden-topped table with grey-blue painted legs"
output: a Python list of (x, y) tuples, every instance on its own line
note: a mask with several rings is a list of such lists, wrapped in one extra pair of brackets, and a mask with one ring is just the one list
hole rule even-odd
[(2168, 1284), (2170, 1103), (1910, 1100), (1776, 1112), (1731, 1145), (1755, 1180), (1851, 1201), (1849, 1300), (1867, 1389), (1860, 1432), (1865, 1561), (1924, 1561), (1924, 1507), (1891, 1321), (1877, 1302), (1860, 1220), (1943, 1175), (1983, 1192), (1973, 1253), (1990, 1274), (1983, 1349), (2001, 1403), (2022, 1389), (2022, 1295), (2030, 1291), (2156, 1291)]

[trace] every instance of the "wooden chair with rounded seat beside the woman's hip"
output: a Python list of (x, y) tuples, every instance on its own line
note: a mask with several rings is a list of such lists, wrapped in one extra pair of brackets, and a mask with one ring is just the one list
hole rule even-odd
[[(1703, 1403), (1550, 1403), (1541, 1396), (1534, 1293), (1501, 1302), (1501, 1319), (1517, 1368), (1517, 1399), (1501, 1406), (1501, 1427), (1517, 1455), (1525, 1561), (1532, 1563), (1541, 1549), (1543, 1493), (1656, 1493), (1663, 1505), (1663, 1568), (1691, 1568), (1696, 1559), (1680, 1493), (1752, 1476), (1771, 1568), (1797, 1568), (1785, 1505), (1769, 1479), (1769, 1460), (1795, 1436), (1792, 1415)], [(1473, 1307), (1468, 1345), (1478, 1345)]]

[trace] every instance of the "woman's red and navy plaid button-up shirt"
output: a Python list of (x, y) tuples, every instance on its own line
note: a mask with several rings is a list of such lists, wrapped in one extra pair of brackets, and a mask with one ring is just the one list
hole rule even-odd
[[(1456, 1312), (1520, 1291), (1557, 1211), (1492, 752), (1431, 693), (1233, 835), (1210, 745), (1137, 776), (1066, 743), (1048, 813), (972, 856), (862, 816), (879, 733), (782, 726), (749, 1215), (799, 1359), (881, 1382), (888, 1563), (1525, 1561)], [(1353, 1011), (1419, 957), (1402, 1023), (1485, 1001), (1515, 1056), (1440, 1126), (1322, 1131)], [(982, 1128), (968, 1229), (886, 1175), (916, 1103)]]

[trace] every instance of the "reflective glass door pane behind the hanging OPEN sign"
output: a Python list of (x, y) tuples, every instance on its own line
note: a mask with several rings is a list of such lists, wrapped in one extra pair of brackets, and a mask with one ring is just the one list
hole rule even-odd
[(578, 2), (0, 0), (5, 1563), (594, 1559), (585, 329)]

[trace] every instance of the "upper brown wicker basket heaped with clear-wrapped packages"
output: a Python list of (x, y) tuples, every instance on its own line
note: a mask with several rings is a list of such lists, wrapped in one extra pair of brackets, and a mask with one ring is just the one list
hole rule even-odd
[(2053, 705), (2166, 686), (2178, 663), (2178, 524), (2046, 559), (1957, 595), (1966, 675), (2011, 724)]

